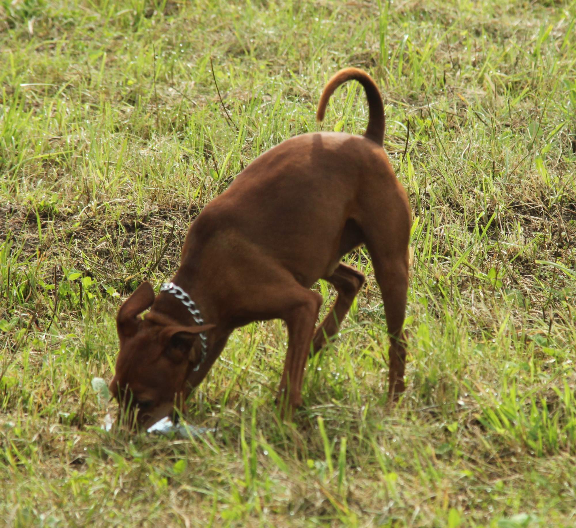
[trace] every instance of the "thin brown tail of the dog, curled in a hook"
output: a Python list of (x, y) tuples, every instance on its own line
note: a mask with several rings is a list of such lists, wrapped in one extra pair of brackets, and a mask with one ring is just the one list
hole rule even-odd
[(322, 97), (320, 97), (320, 102), (318, 103), (316, 119), (319, 121), (324, 119), (326, 105), (328, 104), (330, 96), (334, 93), (334, 90), (336, 90), (336, 88), (338, 88), (342, 83), (350, 81), (351, 79), (358, 81), (366, 91), (369, 114), (368, 126), (364, 133), (364, 137), (376, 141), (378, 145), (382, 145), (382, 143), (384, 143), (384, 129), (386, 127), (382, 97), (372, 77), (358, 68), (344, 68), (344, 70), (340, 70), (328, 81), (328, 84), (324, 86)]

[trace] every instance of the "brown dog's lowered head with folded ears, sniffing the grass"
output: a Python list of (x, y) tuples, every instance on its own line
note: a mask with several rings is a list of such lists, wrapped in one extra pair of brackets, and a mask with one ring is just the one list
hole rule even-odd
[(154, 298), (150, 283), (143, 282), (120, 307), (116, 317), (120, 353), (109, 385), (120, 415), (144, 428), (175, 408), (184, 410), (191, 391), (188, 376), (200, 362), (196, 339), (214, 326), (180, 326), (169, 317), (142, 319), (140, 314), (151, 307)]

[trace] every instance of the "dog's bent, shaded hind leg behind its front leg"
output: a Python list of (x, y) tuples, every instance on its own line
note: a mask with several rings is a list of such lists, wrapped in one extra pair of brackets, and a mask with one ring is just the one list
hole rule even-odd
[(338, 297), (336, 297), (334, 306), (328, 315), (316, 329), (312, 342), (313, 354), (316, 354), (325, 345), (327, 339), (338, 332), (340, 324), (346, 317), (346, 313), (348, 313), (359, 289), (362, 288), (366, 277), (353, 267), (340, 263), (334, 273), (325, 280), (334, 286)]

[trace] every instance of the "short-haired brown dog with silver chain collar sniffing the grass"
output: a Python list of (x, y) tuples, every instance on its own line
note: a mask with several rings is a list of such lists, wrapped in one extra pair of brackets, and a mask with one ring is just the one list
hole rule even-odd
[[(404, 391), (402, 326), (408, 288), (411, 214), (386, 153), (384, 106), (372, 78), (339, 71), (330, 95), (355, 79), (369, 107), (364, 136), (309, 133), (254, 160), (192, 223), (173, 282), (154, 296), (143, 282), (120, 308), (120, 353), (110, 388), (137, 422), (149, 426), (183, 409), (234, 330), (257, 320), (283, 319), (289, 335), (279, 403), (301, 405), (310, 354), (338, 331), (365, 277), (343, 255), (366, 244), (382, 291), (391, 336), (389, 395)], [(338, 297), (314, 333), (319, 278)], [(150, 308), (143, 317), (139, 314)], [(282, 407), (284, 409), (285, 407)]]

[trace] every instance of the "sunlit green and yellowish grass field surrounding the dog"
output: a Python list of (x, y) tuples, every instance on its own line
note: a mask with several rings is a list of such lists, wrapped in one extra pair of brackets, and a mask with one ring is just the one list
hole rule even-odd
[[(0, 0), (5, 525), (576, 526), (575, 18), (574, 1)], [(381, 87), (414, 211), (406, 396), (386, 405), (361, 250), (369, 280), (293, 423), (270, 322), (236, 331), (191, 398), (215, 433), (105, 433), (90, 381), (112, 377), (121, 301), (172, 276), (190, 221), (257, 155), (364, 131), (357, 83), (314, 120), (346, 66)]]

